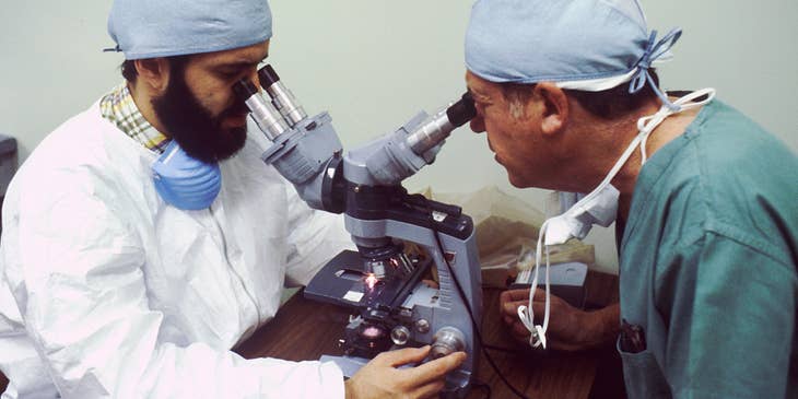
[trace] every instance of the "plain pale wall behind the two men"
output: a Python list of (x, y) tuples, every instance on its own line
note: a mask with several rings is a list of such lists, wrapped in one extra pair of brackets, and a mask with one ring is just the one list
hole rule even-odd
[[(714, 86), (798, 152), (798, 2), (642, 0), (652, 28), (684, 28), (667, 89)], [(345, 146), (432, 112), (465, 90), (462, 38), (469, 0), (272, 0), (271, 61), (308, 113), (329, 110)], [(0, 133), (20, 159), (69, 116), (121, 81), (122, 58), (103, 54), (110, 1), (10, 1), (0, 15)], [(484, 136), (456, 131), (410, 189), (470, 191), (496, 185), (542, 208), (540, 190), (517, 190)], [(591, 233), (603, 270), (617, 266), (609, 230)]]

